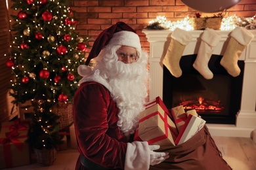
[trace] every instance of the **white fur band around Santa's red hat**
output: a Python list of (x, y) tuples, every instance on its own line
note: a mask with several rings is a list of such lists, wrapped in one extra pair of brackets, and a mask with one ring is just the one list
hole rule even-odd
[(132, 31), (119, 31), (117, 33), (114, 33), (112, 39), (110, 39), (110, 42), (108, 42), (108, 44), (113, 46), (131, 46), (141, 52), (139, 35), (133, 33)]

